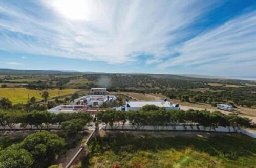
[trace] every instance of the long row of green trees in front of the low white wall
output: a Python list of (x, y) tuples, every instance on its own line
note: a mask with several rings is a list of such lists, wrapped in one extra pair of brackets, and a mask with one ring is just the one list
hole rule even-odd
[(242, 118), (237, 115), (224, 115), (219, 111), (210, 113), (206, 110), (165, 110), (154, 105), (146, 105), (139, 111), (100, 111), (97, 114), (97, 119), (110, 125), (112, 128), (122, 124), (123, 126), (127, 121), (136, 128), (144, 125), (153, 126), (172, 126), (176, 129), (178, 124), (191, 126), (205, 126), (215, 129), (218, 126), (232, 126), (232, 127), (250, 127), (251, 120)]

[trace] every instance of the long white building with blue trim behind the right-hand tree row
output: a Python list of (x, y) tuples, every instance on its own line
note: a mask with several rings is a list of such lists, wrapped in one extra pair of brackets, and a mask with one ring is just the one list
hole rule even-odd
[(157, 107), (164, 107), (166, 110), (179, 109), (179, 104), (172, 104), (168, 102), (167, 99), (160, 100), (160, 101), (156, 101), (156, 100), (126, 101), (124, 106), (116, 107), (115, 109), (120, 111), (129, 111), (129, 110), (137, 111), (137, 110), (140, 110), (145, 105), (155, 105)]

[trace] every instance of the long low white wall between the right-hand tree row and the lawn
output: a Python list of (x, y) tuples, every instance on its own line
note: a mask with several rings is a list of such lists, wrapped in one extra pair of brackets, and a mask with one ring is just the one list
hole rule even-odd
[(113, 126), (111, 128), (110, 125), (103, 127), (103, 129), (116, 129), (116, 130), (173, 130), (173, 131), (207, 131), (207, 132), (239, 132), (243, 133), (245, 135), (248, 135), (250, 137), (256, 138), (256, 133), (250, 132), (248, 130), (238, 128), (238, 127), (222, 127), (218, 126), (216, 128), (213, 127), (204, 127), (204, 126), (190, 126), (190, 125), (177, 125), (176, 127), (174, 126), (152, 126), (152, 125), (145, 125), (145, 126), (140, 126), (137, 128), (136, 126), (132, 125), (119, 125), (119, 126)]

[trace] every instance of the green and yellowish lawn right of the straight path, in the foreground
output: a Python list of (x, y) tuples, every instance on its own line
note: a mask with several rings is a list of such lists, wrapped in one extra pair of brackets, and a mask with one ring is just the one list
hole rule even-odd
[(119, 133), (89, 145), (80, 167), (255, 167), (256, 139), (239, 134), (153, 137)]

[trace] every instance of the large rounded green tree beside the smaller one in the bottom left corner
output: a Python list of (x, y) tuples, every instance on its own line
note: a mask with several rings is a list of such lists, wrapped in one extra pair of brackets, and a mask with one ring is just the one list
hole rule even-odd
[(66, 145), (63, 138), (46, 131), (28, 135), (20, 147), (30, 152), (35, 160), (33, 167), (48, 167), (55, 155)]

